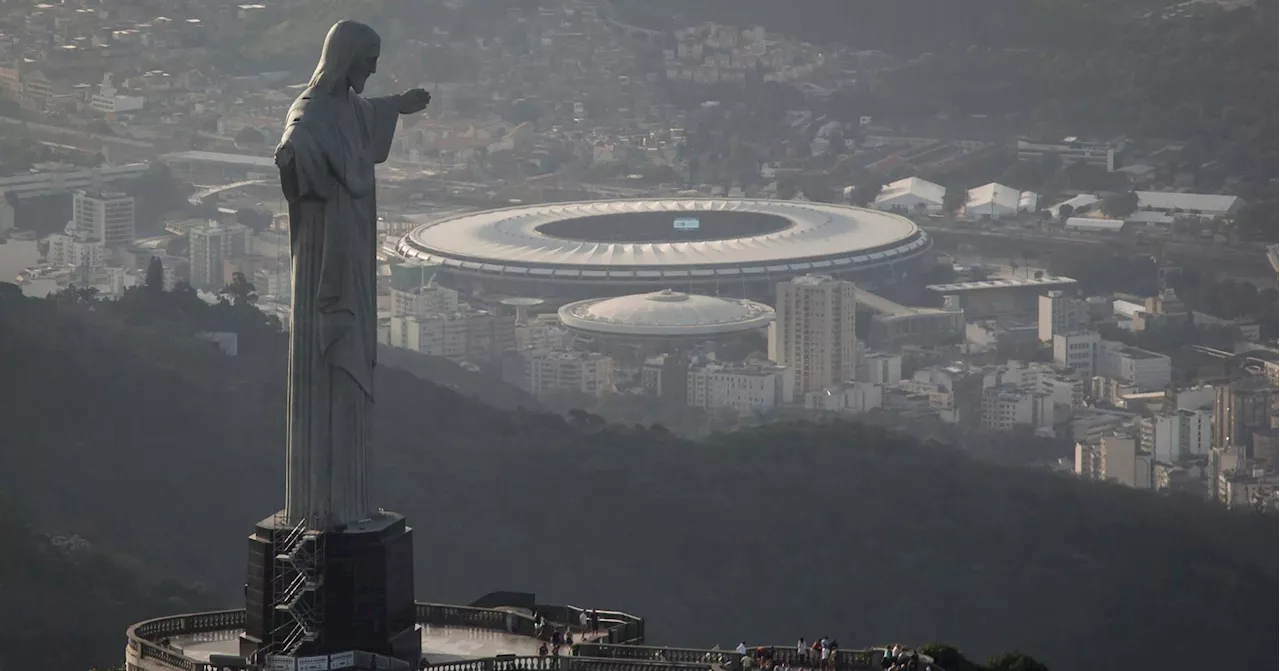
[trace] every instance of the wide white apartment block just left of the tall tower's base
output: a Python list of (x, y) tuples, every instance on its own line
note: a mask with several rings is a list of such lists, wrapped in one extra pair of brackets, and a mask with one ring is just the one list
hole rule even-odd
[(687, 405), (737, 412), (773, 410), (795, 396), (795, 375), (773, 362), (698, 362), (689, 366)]

